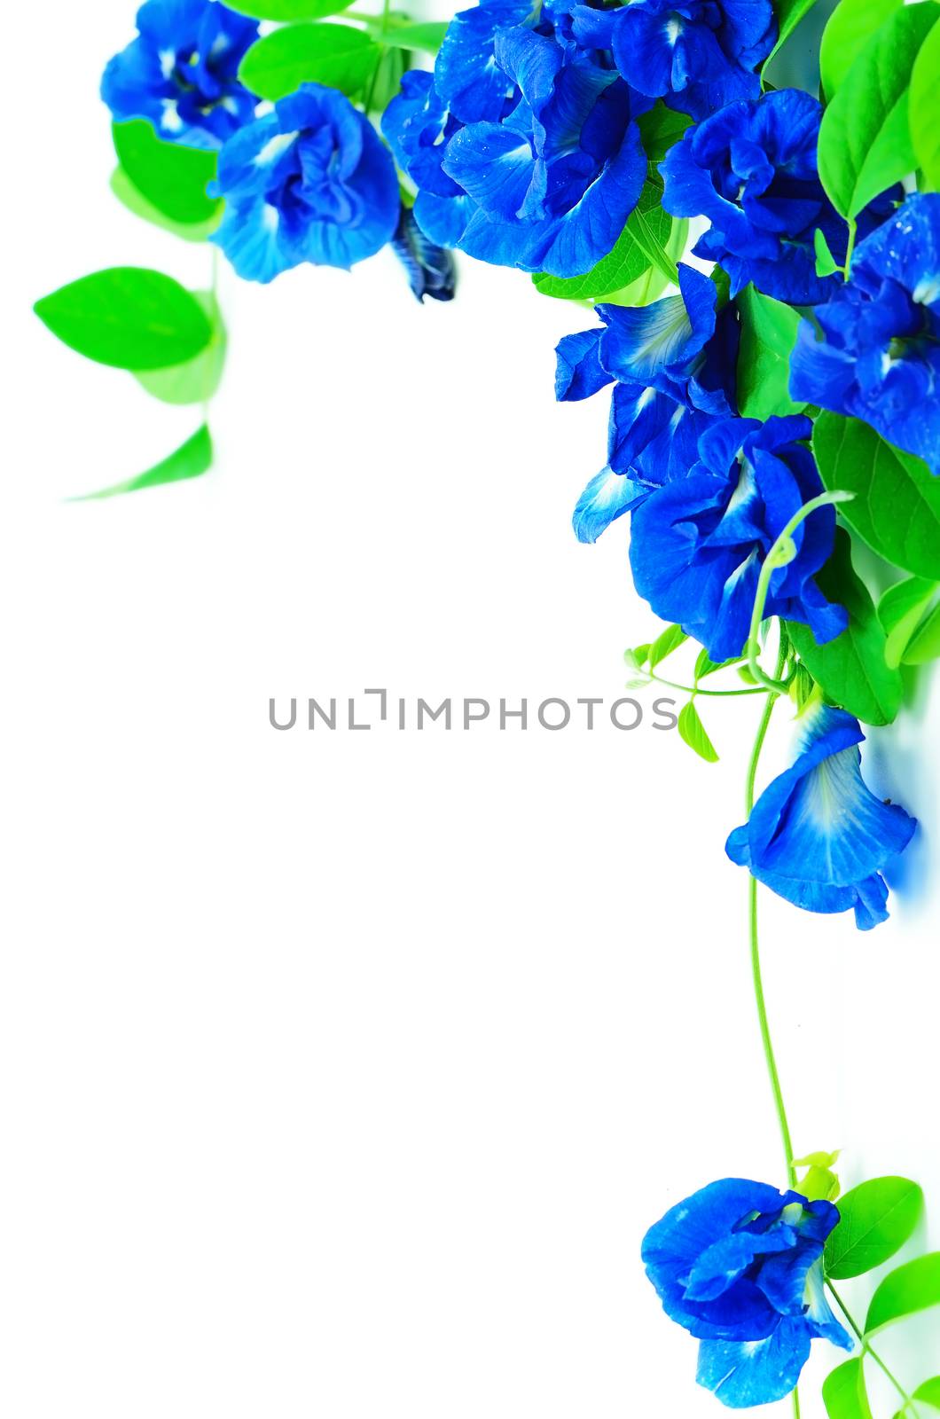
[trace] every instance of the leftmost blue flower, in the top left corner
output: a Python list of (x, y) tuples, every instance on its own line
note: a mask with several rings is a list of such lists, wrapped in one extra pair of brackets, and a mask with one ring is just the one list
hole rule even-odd
[(101, 81), (119, 123), (145, 118), (169, 142), (220, 148), (254, 118), (257, 98), (239, 82), (239, 65), (257, 20), (219, 0), (146, 0), (138, 30)]

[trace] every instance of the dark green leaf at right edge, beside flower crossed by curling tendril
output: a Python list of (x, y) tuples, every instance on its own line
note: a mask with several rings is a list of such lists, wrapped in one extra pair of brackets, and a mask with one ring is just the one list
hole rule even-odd
[(824, 413), (812, 451), (826, 488), (855, 494), (839, 512), (870, 548), (914, 576), (940, 580), (940, 478), (858, 419)]

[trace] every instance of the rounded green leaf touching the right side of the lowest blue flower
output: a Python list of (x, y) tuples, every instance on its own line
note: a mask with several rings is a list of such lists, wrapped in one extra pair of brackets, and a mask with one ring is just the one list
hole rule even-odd
[(883, 1266), (913, 1236), (923, 1205), (922, 1189), (909, 1178), (872, 1178), (846, 1192), (826, 1242), (826, 1276), (848, 1281)]

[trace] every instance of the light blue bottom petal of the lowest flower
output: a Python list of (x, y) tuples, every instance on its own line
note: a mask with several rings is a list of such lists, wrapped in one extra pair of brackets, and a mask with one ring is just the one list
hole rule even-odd
[(770, 1405), (792, 1393), (809, 1359), (809, 1349), (805, 1320), (788, 1317), (765, 1340), (738, 1344), (703, 1341), (696, 1378), (728, 1409)]

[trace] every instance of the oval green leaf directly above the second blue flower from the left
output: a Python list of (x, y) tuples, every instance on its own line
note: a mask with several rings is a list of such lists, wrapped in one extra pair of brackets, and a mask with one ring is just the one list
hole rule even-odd
[(325, 84), (355, 98), (369, 82), (379, 45), (346, 24), (290, 24), (251, 45), (239, 78), (260, 98), (278, 99), (301, 84)]

